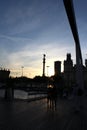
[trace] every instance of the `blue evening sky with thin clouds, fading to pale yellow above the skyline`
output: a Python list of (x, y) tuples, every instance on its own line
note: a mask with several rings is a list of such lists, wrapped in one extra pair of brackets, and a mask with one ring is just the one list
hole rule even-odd
[[(83, 63), (87, 58), (87, 0), (73, 0)], [(0, 67), (12, 77), (33, 78), (54, 74), (54, 61), (71, 53), (74, 64), (75, 42), (63, 0), (0, 0)], [(49, 70), (47, 70), (49, 66)], [(22, 67), (24, 67), (22, 69)]]

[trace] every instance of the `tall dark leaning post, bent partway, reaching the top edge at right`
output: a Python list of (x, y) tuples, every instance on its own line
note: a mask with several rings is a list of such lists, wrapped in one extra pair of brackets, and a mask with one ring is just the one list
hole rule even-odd
[(67, 12), (68, 20), (70, 23), (70, 27), (72, 30), (72, 34), (75, 40), (75, 46), (76, 46), (76, 82), (78, 88), (81, 90), (84, 89), (84, 83), (83, 83), (83, 61), (82, 61), (82, 54), (80, 49), (80, 42), (79, 42), (79, 36), (76, 26), (76, 20), (75, 20), (75, 13), (74, 13), (74, 7), (72, 0), (63, 0), (65, 9)]

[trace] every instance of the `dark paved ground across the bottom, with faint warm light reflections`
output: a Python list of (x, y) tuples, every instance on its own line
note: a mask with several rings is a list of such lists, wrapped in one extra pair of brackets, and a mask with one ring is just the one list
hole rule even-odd
[(87, 97), (78, 100), (0, 101), (0, 130), (87, 130)]

